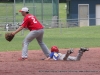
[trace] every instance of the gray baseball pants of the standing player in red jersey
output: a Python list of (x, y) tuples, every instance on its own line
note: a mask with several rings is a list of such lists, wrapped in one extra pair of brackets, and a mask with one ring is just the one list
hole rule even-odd
[(35, 38), (39, 43), (40, 47), (42, 48), (42, 51), (44, 52), (46, 57), (49, 56), (50, 51), (48, 47), (45, 45), (45, 43), (43, 42), (43, 33), (44, 33), (44, 29), (30, 31), (30, 33), (26, 36), (23, 42), (22, 58), (27, 58), (28, 45)]

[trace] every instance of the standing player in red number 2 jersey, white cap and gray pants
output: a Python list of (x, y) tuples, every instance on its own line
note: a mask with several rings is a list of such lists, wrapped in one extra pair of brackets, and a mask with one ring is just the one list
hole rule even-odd
[(28, 58), (28, 45), (35, 38), (46, 57), (48, 57), (50, 51), (43, 42), (44, 29), (42, 24), (37, 20), (34, 15), (29, 14), (29, 9), (27, 7), (23, 7), (19, 12), (21, 12), (22, 16), (24, 16), (24, 19), (21, 26), (16, 31), (12, 32), (12, 34), (17, 34), (23, 28), (27, 28), (30, 30), (29, 34), (25, 37), (23, 41), (22, 57), (19, 60), (25, 60)]

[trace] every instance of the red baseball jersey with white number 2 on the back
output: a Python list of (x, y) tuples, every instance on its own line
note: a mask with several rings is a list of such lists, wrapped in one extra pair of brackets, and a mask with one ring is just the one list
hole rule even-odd
[(22, 26), (24, 28), (28, 28), (30, 31), (43, 29), (42, 24), (31, 14), (27, 14), (24, 17)]

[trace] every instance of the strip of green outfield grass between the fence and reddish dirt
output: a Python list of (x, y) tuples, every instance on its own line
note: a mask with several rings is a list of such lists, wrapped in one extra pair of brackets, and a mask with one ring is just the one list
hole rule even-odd
[[(28, 34), (28, 30), (18, 33), (12, 42), (7, 42), (4, 38), (4, 31), (0, 34), (0, 51), (21, 50), (22, 41)], [(44, 42), (50, 48), (57, 45), (59, 48), (79, 48), (79, 47), (100, 47), (100, 26), (76, 27), (76, 28), (56, 28), (45, 29)], [(36, 40), (29, 45), (29, 50), (40, 50)]]

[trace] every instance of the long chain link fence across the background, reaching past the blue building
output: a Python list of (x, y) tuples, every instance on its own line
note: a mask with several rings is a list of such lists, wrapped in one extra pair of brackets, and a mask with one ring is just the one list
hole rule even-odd
[(85, 19), (59, 20), (59, 16), (55, 15), (56, 10), (54, 11), (53, 4), (53, 0), (14, 0), (14, 3), (0, 3), (0, 30), (5, 30), (7, 25), (9, 25), (10, 30), (17, 29), (23, 20), (19, 10), (25, 6), (29, 8), (31, 14), (39, 19), (45, 28), (89, 26), (90, 20), (97, 20), (96, 18), (90, 18), (88, 23)]

